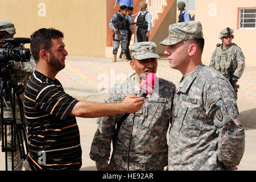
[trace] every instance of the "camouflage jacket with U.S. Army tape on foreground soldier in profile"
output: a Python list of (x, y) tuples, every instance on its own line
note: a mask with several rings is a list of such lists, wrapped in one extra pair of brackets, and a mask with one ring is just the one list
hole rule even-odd
[(202, 63), (176, 86), (168, 170), (232, 170), (245, 150), (235, 92)]

